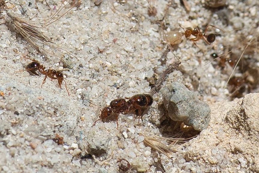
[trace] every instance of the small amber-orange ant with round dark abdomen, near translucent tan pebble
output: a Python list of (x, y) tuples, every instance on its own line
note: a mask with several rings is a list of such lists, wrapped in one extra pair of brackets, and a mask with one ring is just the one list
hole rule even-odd
[[(197, 29), (194, 28), (194, 30), (192, 30), (192, 29), (190, 29), (190, 28), (187, 29), (187, 30), (185, 30), (181, 25), (179, 25), (179, 26), (184, 30), (184, 36), (185, 36), (185, 38), (189, 38), (191, 35), (194, 36), (194, 38), (189, 38), (189, 39), (190, 39), (191, 41), (193, 41), (193, 43), (194, 43), (195, 45), (196, 45), (195, 42), (197, 42), (197, 41), (200, 40), (200, 39), (203, 39), (208, 45), (210, 45), (211, 43), (213, 43), (213, 42), (215, 41), (216, 36), (215, 36), (215, 34), (213, 34), (213, 33), (210, 33), (209, 35), (206, 35), (206, 32), (208, 31), (209, 26), (212, 26), (212, 27), (215, 27), (215, 28), (219, 29), (219, 28), (216, 27), (216, 26), (207, 25), (205, 31), (204, 31), (204, 32), (201, 32), (199, 26), (197, 26)], [(223, 31), (222, 29), (220, 29), (220, 30)], [(180, 39), (181, 39), (181, 38), (180, 38)], [(176, 41), (178, 41), (178, 40), (176, 40)], [(176, 42), (176, 41), (175, 41), (175, 42)], [(197, 46), (197, 45), (196, 45), (196, 46)]]

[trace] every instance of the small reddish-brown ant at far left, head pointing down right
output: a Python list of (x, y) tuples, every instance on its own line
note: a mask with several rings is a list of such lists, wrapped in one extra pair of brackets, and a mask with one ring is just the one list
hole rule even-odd
[[(49, 77), (51, 79), (51, 81), (52, 81), (52, 79), (57, 79), (60, 89), (61, 89), (61, 84), (63, 81), (65, 82), (65, 86), (66, 86), (66, 81), (64, 80), (64, 76), (63, 76), (62, 72), (56, 71), (56, 70), (45, 69), (45, 67), (40, 65), (40, 63), (38, 61), (30, 59), (30, 58), (26, 58), (26, 59), (32, 60), (32, 62), (29, 63), (25, 67), (29, 73), (40, 76), (38, 73), (36, 73), (36, 71), (38, 70), (41, 74), (45, 75), (45, 78), (41, 84), (41, 88), (42, 88), (42, 85), (45, 83), (45, 80), (47, 77)], [(70, 96), (67, 87), (66, 87), (66, 91), (67, 91), (68, 95)]]

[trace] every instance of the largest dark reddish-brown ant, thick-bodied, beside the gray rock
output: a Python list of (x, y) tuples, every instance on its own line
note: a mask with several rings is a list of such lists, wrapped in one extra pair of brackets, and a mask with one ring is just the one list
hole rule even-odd
[[(129, 100), (126, 101), (125, 99), (129, 99)], [(153, 103), (153, 98), (149, 94), (136, 94), (130, 98), (125, 97), (125, 98), (112, 100), (109, 106), (106, 106), (102, 109), (100, 118), (97, 119), (93, 123), (93, 125), (95, 125), (97, 121), (101, 119), (105, 119), (106, 117), (110, 116), (111, 113), (114, 113), (116, 117), (117, 128), (118, 128), (119, 113), (125, 113), (125, 114), (134, 113), (137, 116), (139, 116), (139, 119), (140, 119), (140, 116), (142, 113), (141, 109), (151, 106), (152, 103)]]

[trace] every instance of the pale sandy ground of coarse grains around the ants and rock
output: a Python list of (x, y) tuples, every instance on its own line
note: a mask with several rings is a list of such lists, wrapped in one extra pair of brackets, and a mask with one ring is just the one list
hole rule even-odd
[[(61, 2), (47, 2), (52, 13), (45, 1), (20, 0), (27, 10), (23, 19), (49, 21)], [(258, 2), (231, 1), (223, 9), (207, 8), (206, 2), (188, 1), (187, 12), (180, 1), (151, 1), (158, 19), (165, 16), (162, 32), (157, 18), (148, 15), (145, 0), (103, 1), (99, 6), (83, 0), (80, 7), (39, 28), (55, 43), (39, 44), (41, 53), (7, 25), (8, 15), (21, 13), (8, 3), (10, 10), (0, 14), (0, 171), (123, 172), (117, 161), (126, 159), (128, 172), (259, 172), (258, 94), (228, 101), (224, 86), (233, 67), (222, 70), (217, 61), (205, 65), (212, 53), (220, 55), (230, 48), (239, 56), (247, 42), (257, 43)], [(183, 32), (179, 24), (204, 30), (208, 23), (224, 30), (209, 27), (208, 33), (218, 33), (211, 45), (199, 40), (196, 46), (182, 36), (182, 42), (161, 58), (167, 48), (164, 34)], [(256, 66), (258, 49), (253, 46), (245, 56)], [(47, 78), (41, 88), (44, 75), (24, 71), (32, 62), (24, 57), (62, 71), (70, 96), (65, 83), (60, 89), (56, 79)], [(209, 103), (208, 129), (198, 133), (175, 128), (159, 92), (140, 125), (133, 115), (120, 114), (118, 129), (115, 118), (92, 127), (111, 100), (148, 93), (150, 79), (158, 79), (177, 59), (182, 62), (179, 71), (169, 74), (163, 85), (177, 80)], [(175, 129), (194, 138), (175, 145), (161, 139), (174, 150), (170, 158), (144, 144), (143, 136), (168, 137), (178, 132)], [(57, 134), (64, 143), (60, 138), (58, 144)], [(88, 153), (93, 157), (81, 158)]]

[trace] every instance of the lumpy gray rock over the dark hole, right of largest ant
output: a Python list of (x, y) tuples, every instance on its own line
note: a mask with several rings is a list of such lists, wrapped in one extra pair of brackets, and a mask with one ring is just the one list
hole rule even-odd
[(169, 117), (174, 121), (183, 121), (195, 130), (208, 127), (210, 108), (179, 82), (172, 82), (161, 89), (163, 103)]

